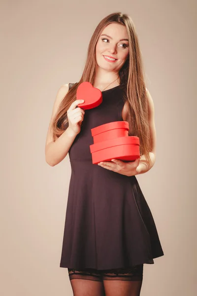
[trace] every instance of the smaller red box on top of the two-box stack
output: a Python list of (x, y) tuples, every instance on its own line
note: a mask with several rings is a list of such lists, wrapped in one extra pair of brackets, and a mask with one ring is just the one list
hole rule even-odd
[(129, 123), (127, 121), (114, 121), (99, 125), (91, 129), (94, 144), (119, 137), (128, 137)]

